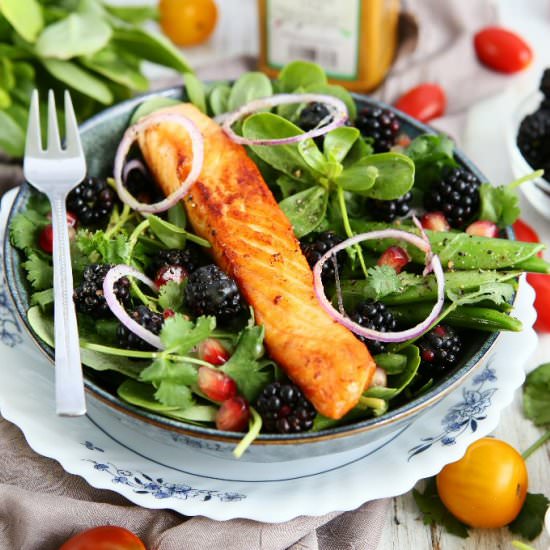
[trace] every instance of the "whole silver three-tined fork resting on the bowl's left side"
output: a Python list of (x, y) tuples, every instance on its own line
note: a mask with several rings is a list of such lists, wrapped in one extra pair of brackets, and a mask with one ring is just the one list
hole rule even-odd
[(86, 160), (68, 91), (65, 91), (65, 126), (63, 149), (59, 137), (55, 97), (50, 90), (48, 145), (43, 149), (38, 92), (34, 90), (23, 170), (27, 181), (42, 191), (52, 206), (56, 411), (62, 416), (80, 416), (86, 412), (86, 402), (73, 302), (73, 275), (65, 200), (69, 191), (84, 179)]

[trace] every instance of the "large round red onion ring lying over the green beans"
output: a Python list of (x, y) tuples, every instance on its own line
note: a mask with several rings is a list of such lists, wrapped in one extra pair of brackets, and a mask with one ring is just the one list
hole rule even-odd
[[(338, 310), (336, 310), (328, 298), (325, 296), (323, 281), (321, 279), (321, 273), (325, 262), (334, 254), (344, 250), (349, 246), (354, 244), (375, 240), (375, 239), (401, 239), (411, 243), (420, 250), (426, 253), (426, 269), (434, 272), (435, 278), (437, 281), (437, 301), (424, 321), (418, 323), (412, 328), (407, 330), (402, 330), (399, 332), (380, 332), (378, 330), (373, 330), (370, 328), (362, 327), (358, 323), (352, 321), (346, 315), (343, 315)], [(379, 342), (405, 342), (411, 338), (416, 338), (423, 334), (426, 329), (428, 329), (432, 323), (437, 319), (437, 316), (443, 308), (443, 302), (445, 300), (445, 275), (443, 274), (443, 268), (441, 267), (441, 262), (439, 257), (435, 254), (432, 254), (432, 249), (429, 242), (426, 242), (423, 238), (413, 233), (408, 233), (407, 231), (402, 231), (400, 229), (383, 229), (380, 231), (371, 231), (369, 233), (361, 233), (355, 235), (341, 243), (337, 244), (319, 259), (319, 261), (313, 267), (313, 283), (315, 289), (315, 295), (319, 300), (323, 309), (341, 325), (345, 326), (353, 333), (358, 334), (359, 336), (364, 336), (371, 340), (378, 340)]]

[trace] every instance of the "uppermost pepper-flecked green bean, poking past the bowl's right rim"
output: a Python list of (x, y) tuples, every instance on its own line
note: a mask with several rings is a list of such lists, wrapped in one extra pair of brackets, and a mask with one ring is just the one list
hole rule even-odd
[[(387, 229), (387, 225), (376, 222), (355, 220), (353, 229), (356, 232), (368, 232)], [(397, 227), (396, 227), (397, 228)], [(412, 226), (402, 226), (403, 230), (419, 234), (418, 229)], [(426, 231), (432, 250), (437, 254), (443, 268), (468, 270), (468, 269), (523, 269), (525, 266), (537, 273), (550, 273), (550, 265), (536, 258), (536, 255), (544, 249), (540, 243), (525, 243), (508, 239), (492, 239), (489, 237), (476, 237), (467, 233), (452, 231)], [(382, 253), (389, 246), (399, 244), (407, 250), (412, 261), (424, 262), (424, 253), (415, 246), (396, 239), (379, 239), (363, 241), (363, 246)]]

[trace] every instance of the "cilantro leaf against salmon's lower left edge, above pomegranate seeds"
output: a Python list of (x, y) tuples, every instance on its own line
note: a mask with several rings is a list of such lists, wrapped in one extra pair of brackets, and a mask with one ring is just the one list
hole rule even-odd
[(263, 339), (263, 326), (245, 328), (239, 336), (233, 355), (220, 367), (220, 370), (235, 380), (239, 391), (249, 401), (253, 401), (269, 381), (269, 374), (264, 370), (265, 365), (258, 361), (264, 352)]

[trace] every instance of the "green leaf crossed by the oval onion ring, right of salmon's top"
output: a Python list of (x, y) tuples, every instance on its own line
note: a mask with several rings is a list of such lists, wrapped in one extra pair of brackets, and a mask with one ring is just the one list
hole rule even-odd
[[(256, 113), (248, 117), (243, 123), (242, 131), (243, 136), (251, 139), (285, 138), (304, 133), (292, 122), (274, 113)], [(277, 147), (252, 145), (250, 148), (267, 164), (290, 177), (303, 178), (311, 183), (317, 180), (318, 174), (314, 174), (304, 160), (296, 143)]]

